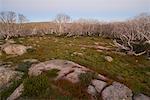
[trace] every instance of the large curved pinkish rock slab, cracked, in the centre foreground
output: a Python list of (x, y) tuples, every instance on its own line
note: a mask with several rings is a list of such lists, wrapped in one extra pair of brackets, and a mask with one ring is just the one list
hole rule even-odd
[(51, 60), (51, 61), (46, 61), (46, 62), (31, 66), (31, 68), (29, 68), (28, 74), (30, 76), (32, 75), (37, 76), (37, 75), (40, 75), (43, 71), (47, 71), (51, 69), (60, 70), (58, 72), (58, 76), (56, 77), (56, 80), (66, 79), (66, 80), (71, 81), (72, 83), (79, 82), (78, 76), (81, 73), (85, 73), (86, 71), (89, 71), (89, 69), (71, 61)]

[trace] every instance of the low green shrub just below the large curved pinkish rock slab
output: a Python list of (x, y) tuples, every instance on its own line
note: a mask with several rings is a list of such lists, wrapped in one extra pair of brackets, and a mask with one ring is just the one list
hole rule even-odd
[(23, 82), (23, 96), (33, 97), (44, 94), (49, 89), (49, 80), (45, 74), (33, 76)]

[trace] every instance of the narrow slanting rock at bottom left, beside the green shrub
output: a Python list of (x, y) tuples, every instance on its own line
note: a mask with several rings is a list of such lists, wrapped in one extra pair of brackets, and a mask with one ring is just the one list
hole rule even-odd
[(7, 100), (16, 100), (19, 98), (23, 92), (23, 84), (15, 89), (15, 91), (7, 98)]

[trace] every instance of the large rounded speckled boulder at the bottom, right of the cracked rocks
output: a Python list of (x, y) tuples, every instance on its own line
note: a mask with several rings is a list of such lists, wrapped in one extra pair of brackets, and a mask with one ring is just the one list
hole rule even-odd
[(103, 100), (132, 100), (132, 91), (123, 84), (113, 82), (102, 92)]

